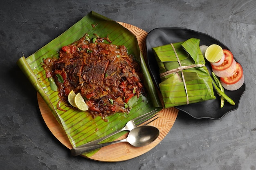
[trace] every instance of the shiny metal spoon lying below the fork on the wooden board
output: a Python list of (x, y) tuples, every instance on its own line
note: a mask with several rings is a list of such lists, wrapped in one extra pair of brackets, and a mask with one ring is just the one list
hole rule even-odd
[(153, 142), (159, 136), (159, 130), (154, 126), (139, 126), (137, 128), (132, 129), (126, 139), (122, 139), (119, 141), (112, 141), (103, 144), (97, 144), (94, 146), (81, 146), (71, 149), (72, 156), (78, 156), (85, 152), (90, 152), (95, 149), (102, 148), (104, 146), (108, 146), (111, 144), (117, 144), (120, 142), (128, 142), (132, 146), (141, 147), (146, 146)]

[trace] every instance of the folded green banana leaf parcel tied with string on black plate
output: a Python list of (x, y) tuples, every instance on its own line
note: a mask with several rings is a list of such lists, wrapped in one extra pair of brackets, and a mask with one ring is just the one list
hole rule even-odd
[[(184, 42), (152, 48), (161, 75), (159, 88), (165, 108), (216, 98), (199, 43), (199, 39), (191, 38)], [(180, 66), (195, 67), (177, 71)], [(168, 72), (171, 73), (166, 74)]]

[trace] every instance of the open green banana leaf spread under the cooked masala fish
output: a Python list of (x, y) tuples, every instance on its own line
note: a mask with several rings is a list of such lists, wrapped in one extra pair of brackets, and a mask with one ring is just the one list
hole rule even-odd
[[(94, 34), (97, 34), (99, 37), (108, 36), (112, 41), (112, 44), (126, 46), (128, 53), (132, 54), (135, 57), (135, 60), (141, 64), (141, 70), (145, 80), (144, 84), (146, 87), (151, 87), (147, 89), (150, 97), (148, 97), (149, 95), (141, 95), (139, 98), (137, 96), (134, 97), (131, 100), (133, 101), (133, 106), (129, 114), (115, 113), (103, 120), (101, 117), (93, 119), (88, 111), (79, 111), (69, 108), (64, 102), (60, 104), (60, 108), (66, 111), (57, 109), (57, 104), (60, 98), (58, 92), (51, 89), (51, 79), (46, 78), (45, 71), (42, 67), (43, 59), (47, 57), (58, 57), (58, 51), (62, 46), (79, 40), (85, 33), (88, 33), (90, 37), (93, 37)], [(93, 11), (34, 54), (27, 58), (24, 56), (21, 57), (17, 61), (17, 64), (49, 106), (60, 126), (65, 130), (73, 147), (80, 146), (99, 137), (108, 135), (111, 132), (122, 128), (130, 119), (138, 117), (155, 108), (161, 110), (162, 107), (160, 104), (161, 102), (158, 101), (155, 88), (152, 88), (154, 87), (153, 82), (144, 62), (144, 58), (139, 50), (135, 35), (117, 22)], [(121, 135), (124, 135), (124, 133), (125, 132), (119, 133), (103, 142), (113, 141)], [(90, 157), (96, 152), (97, 151), (88, 152), (84, 154), (84, 156)]]

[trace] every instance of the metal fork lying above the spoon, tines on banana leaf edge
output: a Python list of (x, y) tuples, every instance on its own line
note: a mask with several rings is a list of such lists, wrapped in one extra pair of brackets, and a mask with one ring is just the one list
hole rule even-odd
[[(128, 121), (128, 122), (126, 123), (126, 125), (125, 125), (123, 128), (121, 128), (120, 130), (117, 130), (117, 131), (115, 131), (115, 132), (112, 132), (112, 133), (110, 133), (109, 135), (106, 135), (106, 136), (101, 137), (101, 138), (99, 138), (99, 139), (96, 139), (96, 140), (94, 140), (94, 141), (90, 141), (90, 142), (88, 142), (88, 143), (86, 143), (86, 144), (83, 144), (83, 145), (81, 145), (81, 146), (78, 146), (78, 147), (76, 147), (76, 148), (83, 147), (83, 146), (92, 146), (92, 145), (96, 145), (96, 144), (98, 144), (99, 142), (103, 141), (104, 139), (107, 139), (107, 138), (109, 138), (109, 137), (111, 137), (111, 136), (113, 136), (113, 135), (115, 135), (115, 134), (117, 134), (117, 133), (119, 133), (119, 132), (122, 132), (122, 131), (124, 131), (124, 130), (130, 131), (130, 130), (136, 128), (137, 126), (139, 126), (139, 125), (145, 123), (146, 121), (152, 119), (153, 117), (156, 117), (157, 115), (154, 115), (155, 113), (157, 113), (157, 110), (156, 110), (156, 109), (155, 109), (155, 110), (152, 110), (152, 111), (150, 111), (150, 112), (148, 112), (148, 113), (145, 113), (144, 115), (141, 115), (141, 116), (139, 116), (139, 117), (135, 117), (134, 119)], [(153, 115), (154, 115), (154, 116), (153, 116)], [(158, 118), (158, 117), (156, 117), (155, 119), (157, 119), (157, 118)], [(147, 122), (147, 123), (144, 124), (144, 125), (147, 125), (147, 124), (151, 123), (151, 122), (154, 121), (155, 119), (153, 119), (153, 120)]]

